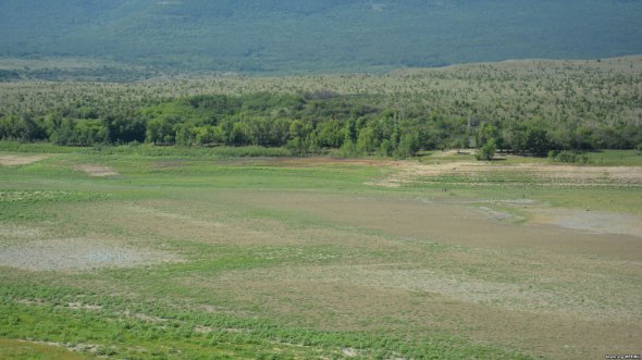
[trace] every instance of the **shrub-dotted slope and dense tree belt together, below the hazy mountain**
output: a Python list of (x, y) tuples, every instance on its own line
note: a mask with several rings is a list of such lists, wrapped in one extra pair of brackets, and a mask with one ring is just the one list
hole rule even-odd
[(387, 75), (0, 83), (0, 138), (91, 146), (287, 147), (405, 158), (421, 149), (642, 144), (642, 58), (522, 61)]

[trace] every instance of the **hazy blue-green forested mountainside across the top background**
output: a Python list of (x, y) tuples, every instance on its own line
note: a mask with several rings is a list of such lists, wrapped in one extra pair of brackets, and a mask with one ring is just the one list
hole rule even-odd
[(181, 71), (387, 71), (642, 53), (626, 0), (4, 0), (0, 54)]

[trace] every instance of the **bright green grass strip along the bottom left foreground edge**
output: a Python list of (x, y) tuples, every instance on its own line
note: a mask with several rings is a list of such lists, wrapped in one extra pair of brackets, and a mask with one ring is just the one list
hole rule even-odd
[[(90, 347), (97, 355), (116, 358), (185, 359), (337, 357), (351, 348), (365, 358), (510, 358), (528, 359), (461, 338), (435, 336), (423, 342), (359, 332), (319, 332), (283, 327), (261, 320), (226, 315), (174, 313), (162, 326), (140, 316), (70, 311), (51, 306), (3, 302), (0, 334), (67, 346)], [(12, 342), (13, 343), (13, 342)], [(83, 348), (82, 347), (82, 348)]]

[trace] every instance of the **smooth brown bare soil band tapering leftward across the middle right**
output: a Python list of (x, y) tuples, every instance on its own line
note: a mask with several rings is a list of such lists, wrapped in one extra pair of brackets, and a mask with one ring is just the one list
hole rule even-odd
[(408, 240), (642, 259), (642, 243), (630, 235), (582, 233), (578, 236), (577, 232), (550, 224), (498, 222), (487, 211), (469, 208), (469, 203), (293, 191), (232, 194), (234, 201), (250, 207), (289, 210), (341, 226)]

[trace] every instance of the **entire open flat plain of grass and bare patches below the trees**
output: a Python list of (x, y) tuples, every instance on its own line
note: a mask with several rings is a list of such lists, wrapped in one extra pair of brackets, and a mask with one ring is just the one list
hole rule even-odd
[(633, 151), (0, 149), (3, 359), (642, 351)]

